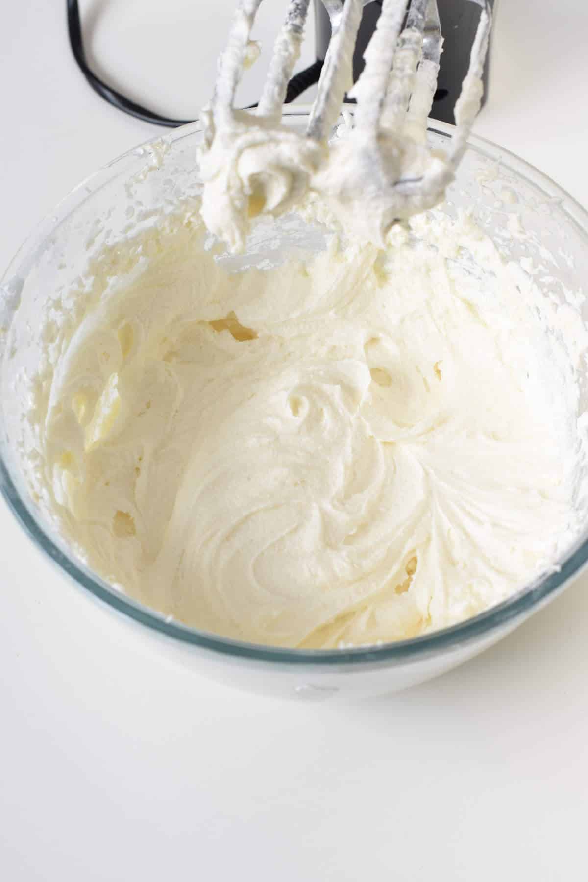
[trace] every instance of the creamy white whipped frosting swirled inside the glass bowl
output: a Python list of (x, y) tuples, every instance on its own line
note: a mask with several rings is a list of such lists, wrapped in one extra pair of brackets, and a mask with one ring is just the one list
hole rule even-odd
[(553, 563), (577, 390), (553, 307), (471, 221), (242, 273), (204, 238), (189, 216), (117, 246), (38, 386), (40, 492), (93, 568), (199, 628), (336, 647)]

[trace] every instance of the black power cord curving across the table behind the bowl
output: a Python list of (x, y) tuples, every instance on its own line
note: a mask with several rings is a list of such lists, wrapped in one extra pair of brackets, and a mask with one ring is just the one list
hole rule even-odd
[[(84, 50), (84, 41), (82, 38), (82, 25), (79, 18), (78, 0), (66, 0), (67, 3), (67, 27), (70, 35), (70, 45), (73, 57), (76, 59), (80, 71), (86, 77), (94, 92), (100, 95), (108, 104), (123, 110), (130, 116), (143, 120), (144, 123), (154, 123), (155, 125), (166, 125), (168, 128), (175, 129), (179, 125), (187, 125), (194, 122), (191, 119), (170, 119), (168, 116), (160, 116), (153, 110), (142, 107), (136, 101), (131, 101), (122, 93), (117, 92), (112, 86), (108, 86), (100, 77), (90, 69), (86, 59)], [(288, 83), (285, 103), (289, 104), (294, 98), (304, 92), (309, 86), (313, 86), (318, 82), (323, 69), (323, 62), (317, 59), (316, 62), (310, 64), (304, 71), (297, 73)], [(257, 104), (250, 104), (249, 108), (257, 107)]]

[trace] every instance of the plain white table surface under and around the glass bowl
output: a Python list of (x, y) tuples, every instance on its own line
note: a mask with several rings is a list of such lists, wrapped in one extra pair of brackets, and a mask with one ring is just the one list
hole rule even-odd
[[(64, 5), (2, 4), (2, 268), (80, 179), (161, 133), (86, 85)], [(153, 108), (196, 115), (233, 0), (80, 5), (96, 68)], [(278, 6), (265, 0), (262, 34)], [(583, 0), (502, 0), (476, 125), (584, 205), (586, 34)], [(188, 674), (48, 567), (4, 504), (0, 531), (6, 882), (586, 877), (585, 576), (465, 667), (329, 706)]]

